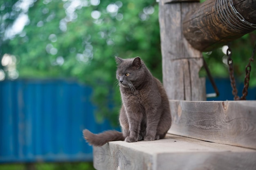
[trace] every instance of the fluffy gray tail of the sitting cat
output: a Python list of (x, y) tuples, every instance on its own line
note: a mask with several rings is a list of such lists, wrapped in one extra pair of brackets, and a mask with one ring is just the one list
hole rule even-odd
[(83, 130), (83, 137), (85, 140), (93, 146), (103, 146), (109, 141), (124, 141), (122, 132), (116, 130), (108, 130), (99, 134), (93, 134), (89, 130)]

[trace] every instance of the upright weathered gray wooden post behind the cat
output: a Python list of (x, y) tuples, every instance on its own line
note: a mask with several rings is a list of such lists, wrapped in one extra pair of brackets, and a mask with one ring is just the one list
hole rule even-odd
[(205, 79), (198, 75), (202, 54), (184, 38), (181, 24), (185, 14), (198, 5), (195, 0), (159, 2), (163, 83), (169, 99), (206, 99)]

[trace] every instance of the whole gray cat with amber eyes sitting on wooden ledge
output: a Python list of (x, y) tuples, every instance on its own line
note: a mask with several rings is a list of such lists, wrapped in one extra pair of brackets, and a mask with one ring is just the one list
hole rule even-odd
[(122, 132), (108, 130), (96, 135), (85, 129), (84, 138), (93, 146), (102, 146), (109, 141), (164, 138), (171, 127), (171, 112), (161, 82), (153, 77), (139, 57), (126, 60), (116, 57), (116, 62), (123, 102), (119, 115)]

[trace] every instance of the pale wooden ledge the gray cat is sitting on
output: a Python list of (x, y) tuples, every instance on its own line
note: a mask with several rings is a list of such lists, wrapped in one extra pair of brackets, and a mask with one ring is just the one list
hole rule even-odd
[(93, 147), (97, 170), (253, 170), (256, 150), (175, 135), (157, 141), (114, 141)]

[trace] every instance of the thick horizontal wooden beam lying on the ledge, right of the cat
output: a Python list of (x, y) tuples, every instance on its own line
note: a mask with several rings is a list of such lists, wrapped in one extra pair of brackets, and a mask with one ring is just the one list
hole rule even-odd
[(170, 100), (170, 133), (256, 149), (256, 101)]

